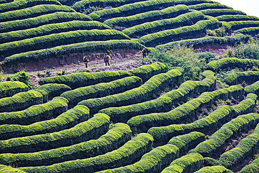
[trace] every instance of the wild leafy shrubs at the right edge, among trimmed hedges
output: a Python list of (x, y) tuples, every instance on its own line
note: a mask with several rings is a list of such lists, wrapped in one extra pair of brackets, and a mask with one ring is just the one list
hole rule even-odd
[(241, 43), (235, 47), (228, 47), (224, 56), (236, 57), (241, 59), (259, 59), (259, 43)]

